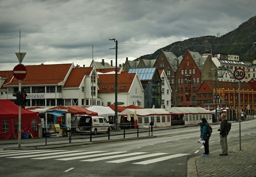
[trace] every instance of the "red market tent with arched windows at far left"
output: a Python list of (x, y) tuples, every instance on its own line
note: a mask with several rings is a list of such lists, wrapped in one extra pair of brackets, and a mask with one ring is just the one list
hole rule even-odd
[[(10, 100), (0, 100), (0, 140), (18, 138), (19, 106)], [(21, 108), (21, 129), (37, 136), (39, 114)]]

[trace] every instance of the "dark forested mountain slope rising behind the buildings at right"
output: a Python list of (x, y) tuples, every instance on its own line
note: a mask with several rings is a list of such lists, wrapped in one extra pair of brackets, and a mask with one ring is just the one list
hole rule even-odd
[[(160, 48), (152, 54), (142, 56), (143, 59), (157, 59), (161, 49), (164, 51), (169, 50), (177, 57), (184, 55), (186, 48), (189, 47), (190, 51), (196, 50), (203, 54), (205, 50), (212, 53), (229, 53), (239, 55), (239, 60), (246, 59), (247, 61), (256, 60), (256, 47), (252, 47), (256, 42), (256, 16), (250, 18), (248, 21), (243, 22), (239, 27), (223, 36), (202, 36), (193, 37), (184, 41), (177, 41), (166, 47)], [(241, 44), (249, 43), (249, 44)], [(229, 45), (218, 45), (229, 44)], [(199, 46), (196, 46), (199, 45)], [(184, 51), (179, 51), (178, 46), (183, 46)], [(250, 59), (248, 59), (250, 58)], [(137, 58), (138, 59), (138, 58)], [(137, 60), (136, 59), (136, 60)]]

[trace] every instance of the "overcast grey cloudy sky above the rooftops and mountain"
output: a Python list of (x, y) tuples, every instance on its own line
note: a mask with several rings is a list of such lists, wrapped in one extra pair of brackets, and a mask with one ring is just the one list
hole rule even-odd
[(115, 65), (109, 38), (118, 40), (119, 65), (176, 41), (224, 35), (255, 9), (255, 0), (0, 0), (0, 71), (19, 64), (19, 35), (24, 65)]

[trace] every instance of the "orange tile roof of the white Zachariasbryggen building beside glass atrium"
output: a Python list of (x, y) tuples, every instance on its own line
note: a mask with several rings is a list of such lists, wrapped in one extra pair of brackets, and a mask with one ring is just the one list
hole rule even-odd
[[(117, 91), (128, 92), (132, 85), (135, 75), (136, 73), (118, 74), (117, 75), (117, 83), (118, 83)], [(107, 86), (107, 88), (103, 88), (103, 86)], [(115, 74), (99, 74), (99, 78), (98, 78), (98, 87), (100, 89), (99, 93), (115, 92), (114, 86), (115, 86)], [(125, 87), (124, 90), (121, 90), (121, 87), (122, 88)]]

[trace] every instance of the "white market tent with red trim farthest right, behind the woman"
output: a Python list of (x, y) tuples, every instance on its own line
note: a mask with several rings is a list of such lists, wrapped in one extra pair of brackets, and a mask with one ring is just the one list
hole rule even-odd
[(212, 123), (211, 112), (202, 107), (172, 107), (167, 110), (171, 115), (183, 114), (185, 125), (198, 124), (202, 117)]

